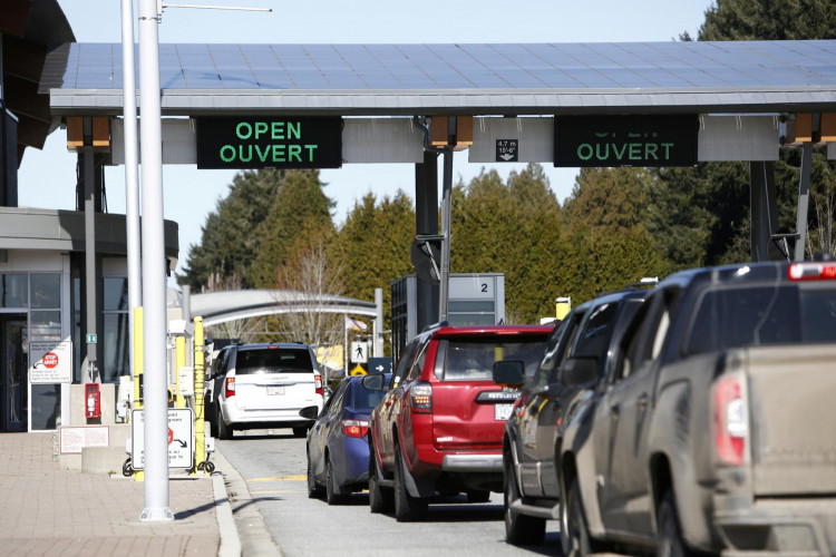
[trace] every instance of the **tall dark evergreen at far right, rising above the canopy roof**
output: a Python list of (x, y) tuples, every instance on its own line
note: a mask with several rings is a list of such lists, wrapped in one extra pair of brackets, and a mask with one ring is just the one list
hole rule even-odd
[[(682, 37), (688, 40), (687, 35)], [(836, 3), (820, 0), (718, 0), (706, 11), (698, 40), (804, 40), (836, 38)], [(817, 149), (810, 188), (811, 207), (807, 254), (827, 243), (836, 190), (833, 162)], [(747, 163), (701, 163), (698, 168), (654, 169), (659, 187), (652, 193), (650, 228), (658, 248), (672, 267), (749, 261), (750, 192)], [(781, 149), (775, 164), (778, 232), (796, 231), (800, 174), (798, 149)], [(829, 197), (828, 197), (829, 196)], [(707, 226), (700, 232), (700, 223)], [(704, 235), (703, 235), (704, 234)], [(830, 235), (832, 237), (832, 235)], [(815, 242), (819, 247), (813, 245)], [(791, 246), (790, 246), (791, 250)]]

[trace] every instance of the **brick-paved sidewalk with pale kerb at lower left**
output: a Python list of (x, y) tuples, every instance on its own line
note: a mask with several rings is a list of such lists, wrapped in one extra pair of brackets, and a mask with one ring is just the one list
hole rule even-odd
[[(216, 471), (211, 477), (172, 471), (168, 505), (173, 521), (143, 522), (145, 483), (120, 471), (110, 476), (62, 469), (51, 432), (0, 433), (0, 554), (241, 555), (224, 481), (224, 477), (226, 482), (241, 477), (223, 456), (212, 460)], [(244, 520), (263, 536), (260, 515)], [(260, 547), (271, 549), (263, 541)]]

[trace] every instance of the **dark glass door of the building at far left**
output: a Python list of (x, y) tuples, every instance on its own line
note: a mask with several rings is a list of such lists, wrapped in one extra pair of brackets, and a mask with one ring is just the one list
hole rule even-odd
[(29, 416), (26, 314), (0, 314), (0, 431), (26, 431)]

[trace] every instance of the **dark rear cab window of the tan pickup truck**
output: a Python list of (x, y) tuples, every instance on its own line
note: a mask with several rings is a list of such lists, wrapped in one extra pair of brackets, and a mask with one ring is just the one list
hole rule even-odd
[(836, 291), (797, 285), (723, 289), (703, 296), (687, 352), (823, 342), (836, 342)]

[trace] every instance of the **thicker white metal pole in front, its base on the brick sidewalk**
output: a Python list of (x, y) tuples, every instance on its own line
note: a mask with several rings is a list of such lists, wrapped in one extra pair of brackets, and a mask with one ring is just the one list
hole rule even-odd
[(163, 141), (157, 0), (139, 1), (139, 100), (143, 125), (143, 297), (145, 403), (144, 521), (169, 521), (166, 261), (163, 228)]

